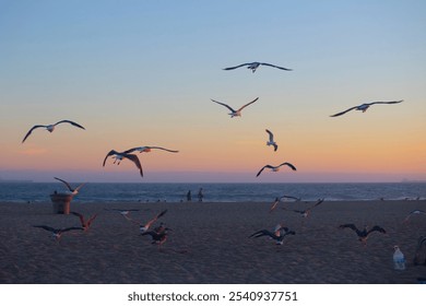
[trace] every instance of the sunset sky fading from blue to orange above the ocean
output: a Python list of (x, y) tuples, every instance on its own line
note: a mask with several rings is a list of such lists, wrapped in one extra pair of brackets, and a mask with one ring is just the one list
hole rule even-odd
[[(0, 0), (0, 179), (426, 180), (425, 11), (423, 0)], [(293, 71), (223, 70), (252, 61)], [(256, 97), (235, 118), (211, 101)], [(62, 119), (85, 130), (36, 129), (22, 143)], [(130, 161), (103, 167), (110, 150), (140, 145), (179, 153), (137, 153), (143, 178)], [(256, 177), (283, 162), (297, 172)]]

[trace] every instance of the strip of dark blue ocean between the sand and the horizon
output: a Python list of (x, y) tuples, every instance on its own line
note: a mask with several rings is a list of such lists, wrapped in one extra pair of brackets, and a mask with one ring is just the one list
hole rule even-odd
[[(71, 184), (75, 187), (79, 184)], [(203, 189), (206, 202), (271, 202), (292, 196), (303, 201), (324, 198), (327, 201), (426, 199), (426, 183), (336, 183), (336, 184), (113, 184), (88, 183), (73, 202), (180, 202), (190, 190), (198, 201)], [(54, 191), (64, 192), (61, 183), (0, 183), (0, 201), (46, 202)]]

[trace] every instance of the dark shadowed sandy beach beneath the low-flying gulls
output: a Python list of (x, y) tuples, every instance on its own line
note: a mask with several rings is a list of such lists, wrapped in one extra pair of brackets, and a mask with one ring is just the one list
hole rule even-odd
[[(417, 239), (426, 235), (426, 201), (324, 201), (309, 217), (270, 203), (71, 203), (71, 211), (98, 213), (90, 231), (64, 233), (56, 242), (33, 225), (79, 226), (75, 215), (55, 214), (52, 203), (0, 203), (0, 283), (417, 283), (426, 266), (414, 266)], [(158, 248), (141, 236), (138, 224), (106, 208), (139, 209), (130, 216), (146, 222), (164, 209), (161, 221), (173, 231)], [(157, 221), (159, 223), (159, 220)], [(249, 238), (281, 223), (296, 232), (284, 245)], [(340, 224), (380, 225), (366, 246)], [(393, 246), (406, 269), (393, 269)]]

